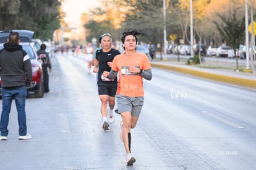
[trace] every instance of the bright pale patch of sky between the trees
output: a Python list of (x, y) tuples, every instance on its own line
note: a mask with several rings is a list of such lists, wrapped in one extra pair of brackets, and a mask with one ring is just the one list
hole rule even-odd
[(93, 9), (98, 4), (97, 0), (65, 0), (62, 2), (62, 10), (66, 12), (65, 21), (69, 24), (69, 27), (81, 27), (80, 17), (82, 13), (88, 12), (89, 9)]

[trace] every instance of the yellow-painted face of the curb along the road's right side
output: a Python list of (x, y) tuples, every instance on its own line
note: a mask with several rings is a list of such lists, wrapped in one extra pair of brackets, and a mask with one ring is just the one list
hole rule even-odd
[(229, 83), (232, 85), (238, 85), (241, 87), (248, 87), (256, 89), (256, 80), (242, 79), (237, 77), (231, 77), (228, 75), (219, 75), (208, 72), (202, 72), (198, 70), (186, 69), (183, 67), (168, 66), (163, 64), (150, 63), (152, 67), (158, 67), (160, 69), (173, 70), (174, 72), (181, 72), (183, 74), (194, 75), (195, 77), (202, 77), (203, 79), (215, 80), (217, 82)]

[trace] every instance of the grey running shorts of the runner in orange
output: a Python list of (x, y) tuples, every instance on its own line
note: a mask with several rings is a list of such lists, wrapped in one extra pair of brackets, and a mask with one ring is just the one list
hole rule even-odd
[(140, 97), (128, 97), (124, 95), (116, 95), (117, 108), (119, 113), (129, 111), (132, 116), (139, 117), (142, 110), (144, 96)]

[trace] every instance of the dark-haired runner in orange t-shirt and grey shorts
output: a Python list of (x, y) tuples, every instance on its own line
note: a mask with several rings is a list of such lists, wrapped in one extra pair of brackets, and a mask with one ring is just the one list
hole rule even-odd
[(140, 33), (137, 30), (130, 32), (127, 30), (127, 32), (123, 33), (121, 40), (125, 50), (124, 53), (114, 57), (110, 72), (103, 72), (103, 77), (108, 79), (116, 78), (117, 73), (119, 73), (116, 98), (118, 112), (122, 116), (120, 138), (124, 142), (124, 148), (126, 149), (127, 165), (132, 165), (135, 162), (135, 157), (132, 156), (130, 151), (130, 129), (137, 124), (143, 106), (142, 78), (152, 79), (148, 57), (146, 54), (136, 51), (138, 35)]

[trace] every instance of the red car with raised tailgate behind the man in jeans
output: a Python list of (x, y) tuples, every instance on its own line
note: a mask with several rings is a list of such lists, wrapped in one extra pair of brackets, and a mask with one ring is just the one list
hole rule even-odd
[[(27, 91), (35, 93), (35, 98), (41, 98), (43, 97), (43, 93), (45, 92), (44, 86), (43, 86), (43, 71), (41, 69), (40, 62), (38, 62), (38, 56), (35, 51), (35, 46), (32, 43), (33, 32), (29, 30), (0, 31), (0, 49), (3, 48), (3, 45), (4, 43), (6, 43), (6, 40), (9, 37), (9, 33), (11, 31), (19, 32), (19, 35), (20, 35), (19, 45), (22, 45), (22, 48), (30, 56), (33, 77)], [(1, 80), (0, 80), (0, 95), (1, 95)]]

